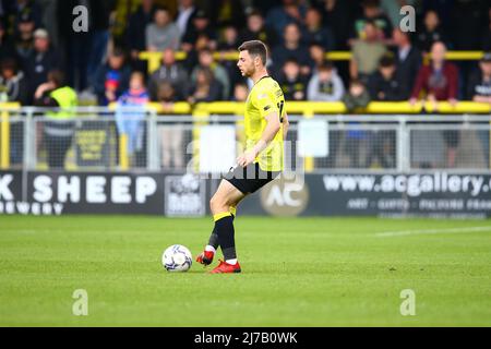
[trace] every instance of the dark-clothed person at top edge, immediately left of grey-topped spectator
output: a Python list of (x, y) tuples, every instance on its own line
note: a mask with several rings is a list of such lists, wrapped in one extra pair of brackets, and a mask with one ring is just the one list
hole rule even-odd
[(140, 52), (146, 50), (146, 27), (152, 23), (155, 14), (154, 0), (142, 0), (135, 13), (130, 16), (127, 32), (127, 46), (130, 49), (132, 65), (144, 70), (139, 62)]

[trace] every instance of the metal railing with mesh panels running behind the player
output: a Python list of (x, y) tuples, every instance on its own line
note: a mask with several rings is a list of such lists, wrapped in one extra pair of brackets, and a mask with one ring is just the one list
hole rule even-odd
[[(238, 116), (161, 116), (153, 109), (121, 115), (108, 108), (77, 108), (60, 135), (49, 131), (53, 120), (47, 110), (0, 110), (0, 169), (199, 172), (211, 158), (200, 152), (208, 149), (206, 142), (219, 139), (218, 146), (233, 155), (242, 151), (243, 120)], [(323, 122), (325, 132), (301, 139), (311, 121)], [(491, 172), (490, 115), (290, 116), (290, 123), (286, 164), (292, 169)], [(208, 141), (203, 143), (205, 133)], [(314, 151), (325, 146), (326, 154), (300, 155), (302, 142)]]

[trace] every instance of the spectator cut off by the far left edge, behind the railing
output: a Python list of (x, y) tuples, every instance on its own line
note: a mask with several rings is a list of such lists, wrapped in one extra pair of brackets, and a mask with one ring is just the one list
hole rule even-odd
[[(0, 103), (16, 101), (22, 106), (29, 101), (27, 82), (19, 71), (14, 59), (5, 58), (0, 62)], [(10, 125), (10, 156), (12, 165), (21, 165), (24, 151), (24, 124), (12, 122)]]

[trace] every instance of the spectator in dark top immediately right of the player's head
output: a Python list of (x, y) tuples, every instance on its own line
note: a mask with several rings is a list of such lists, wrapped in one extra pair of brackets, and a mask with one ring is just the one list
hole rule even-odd
[(300, 29), (296, 24), (288, 24), (285, 27), (284, 44), (273, 49), (272, 58), (275, 69), (279, 70), (285, 62), (294, 58), (300, 64), (300, 73), (309, 75), (311, 73), (312, 60), (309, 49), (300, 41)]

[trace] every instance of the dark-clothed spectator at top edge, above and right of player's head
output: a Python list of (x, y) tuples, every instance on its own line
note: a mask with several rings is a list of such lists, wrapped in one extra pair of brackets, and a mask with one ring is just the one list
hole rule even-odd
[(266, 25), (273, 28), (277, 36), (283, 36), (289, 24), (302, 25), (307, 7), (298, 0), (282, 0), (282, 5), (273, 8), (266, 16)]

